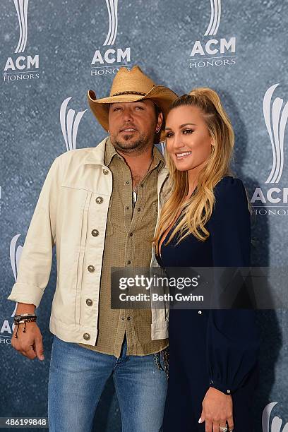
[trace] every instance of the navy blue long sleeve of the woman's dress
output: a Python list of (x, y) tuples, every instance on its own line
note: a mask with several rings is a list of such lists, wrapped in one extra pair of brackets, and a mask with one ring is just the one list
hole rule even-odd
[[(241, 180), (225, 177), (217, 184), (215, 208), (208, 224), (214, 267), (249, 267), (250, 212)], [(211, 310), (207, 343), (210, 387), (225, 394), (234, 392), (257, 364), (255, 311)]]

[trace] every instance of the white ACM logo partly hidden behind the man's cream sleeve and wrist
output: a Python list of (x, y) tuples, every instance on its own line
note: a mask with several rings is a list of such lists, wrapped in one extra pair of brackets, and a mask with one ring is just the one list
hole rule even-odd
[[(13, 236), (13, 239), (11, 240), (11, 244), (10, 244), (10, 262), (11, 262), (11, 268), (12, 268), (15, 282), (17, 280), (17, 272), (20, 263), (20, 256), (23, 250), (23, 247), (20, 245), (16, 247), (20, 235), (21, 234), (16, 234), (16, 236)], [(13, 312), (11, 313), (11, 318), (15, 316), (16, 308), (17, 308), (17, 302), (15, 304)], [(13, 333), (13, 329), (14, 329), (13, 323), (11, 323), (10, 325), (8, 320), (3, 321), (0, 328), (0, 344), (11, 344), (11, 335)]]

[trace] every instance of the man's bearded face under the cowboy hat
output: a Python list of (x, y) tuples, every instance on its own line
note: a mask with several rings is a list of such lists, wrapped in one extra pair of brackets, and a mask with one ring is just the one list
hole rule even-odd
[(151, 100), (119, 102), (109, 106), (111, 142), (122, 152), (135, 152), (151, 146), (156, 128), (161, 123), (162, 114), (157, 118)]

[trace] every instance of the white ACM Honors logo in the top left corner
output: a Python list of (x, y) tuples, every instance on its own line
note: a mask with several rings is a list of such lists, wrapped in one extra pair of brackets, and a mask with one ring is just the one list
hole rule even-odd
[[(14, 54), (25, 52), (28, 40), (28, 0), (14, 0), (18, 16), (19, 39)], [(39, 78), (39, 54), (34, 56), (14, 55), (8, 57), (4, 68), (5, 82)]]

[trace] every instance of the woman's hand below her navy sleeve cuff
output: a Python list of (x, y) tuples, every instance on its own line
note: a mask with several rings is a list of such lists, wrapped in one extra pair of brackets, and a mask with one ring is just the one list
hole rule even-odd
[(220, 432), (220, 427), (227, 426), (233, 431), (233, 402), (231, 395), (224, 395), (216, 388), (210, 387), (202, 402), (202, 413), (199, 423), (205, 421), (205, 432)]

